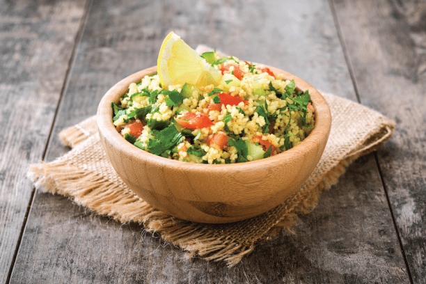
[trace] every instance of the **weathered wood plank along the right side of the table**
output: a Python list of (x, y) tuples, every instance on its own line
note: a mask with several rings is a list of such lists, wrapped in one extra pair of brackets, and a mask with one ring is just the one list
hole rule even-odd
[(397, 122), (377, 152), (414, 283), (426, 279), (426, 5), (336, 0), (363, 104)]

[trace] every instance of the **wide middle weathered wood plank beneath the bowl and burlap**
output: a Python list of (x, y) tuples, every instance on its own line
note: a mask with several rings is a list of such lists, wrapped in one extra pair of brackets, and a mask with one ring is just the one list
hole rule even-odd
[[(325, 0), (111, 0), (94, 1), (92, 7), (55, 133), (93, 115), (100, 97), (116, 81), (155, 65), (161, 41), (171, 30), (192, 47), (203, 43), (242, 59), (275, 65), (319, 89), (356, 100)], [(63, 152), (66, 149), (54, 140), (47, 159)], [(374, 160), (369, 156), (326, 193), (320, 207), (302, 217), (296, 228), (297, 237), (281, 235), (232, 269), (216, 262), (181, 260), (177, 248), (164, 246), (149, 235), (141, 239), (139, 226), (108, 223), (66, 198), (37, 193), (12, 281), (355, 283), (379, 279), (407, 283), (383, 192)], [(384, 223), (382, 231), (373, 228), (378, 222)], [(344, 228), (336, 230), (336, 224)], [(356, 230), (356, 226), (361, 229)], [(365, 256), (367, 260), (363, 259)], [(339, 261), (332, 265), (325, 261), (333, 257)], [(375, 261), (380, 265), (374, 265)], [(361, 271), (363, 266), (368, 268), (365, 272)], [(395, 272), (383, 271), (383, 267)]]

